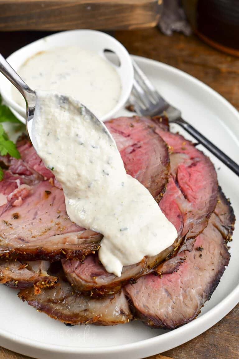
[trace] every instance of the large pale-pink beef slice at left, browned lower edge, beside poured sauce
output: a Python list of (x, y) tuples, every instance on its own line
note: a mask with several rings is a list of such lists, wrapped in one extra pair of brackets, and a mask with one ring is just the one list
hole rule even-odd
[(42, 181), (32, 191), (20, 206), (11, 206), (0, 216), (2, 259), (83, 259), (99, 248), (99, 233), (68, 218), (61, 189)]

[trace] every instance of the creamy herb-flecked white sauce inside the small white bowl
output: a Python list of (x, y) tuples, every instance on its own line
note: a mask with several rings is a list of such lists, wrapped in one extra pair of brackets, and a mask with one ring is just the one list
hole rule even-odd
[[(113, 109), (121, 94), (120, 76), (113, 65), (98, 53), (76, 46), (39, 52), (24, 62), (18, 74), (30, 88), (72, 96), (98, 117)], [(13, 97), (25, 107), (15, 87)]]

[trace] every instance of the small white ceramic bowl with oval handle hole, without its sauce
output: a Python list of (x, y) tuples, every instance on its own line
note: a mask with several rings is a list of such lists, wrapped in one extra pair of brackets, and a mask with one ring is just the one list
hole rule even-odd
[[(105, 121), (106, 119), (112, 117), (121, 107), (124, 106), (125, 102), (129, 98), (134, 78), (134, 70), (129, 53), (114, 37), (107, 35), (104, 32), (95, 30), (72, 30), (59, 32), (20, 48), (18, 51), (12, 53), (7, 58), (7, 61), (14, 68), (14, 70), (18, 71), (19, 67), (35, 53), (64, 46), (78, 46), (83, 50), (94, 51), (106, 60), (107, 58), (105, 57), (104, 50), (111, 50), (116, 53), (119, 58), (120, 65), (116, 66), (112, 64), (112, 62), (111, 64), (120, 75), (122, 87), (121, 95), (116, 106), (100, 119)], [(0, 93), (4, 101), (11, 107), (11, 109), (14, 110), (13, 112), (16, 117), (25, 123), (26, 110), (14, 101), (12, 88), (13, 85), (10, 81), (0, 74)]]

